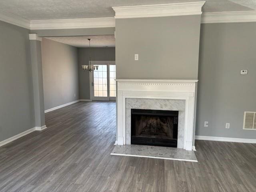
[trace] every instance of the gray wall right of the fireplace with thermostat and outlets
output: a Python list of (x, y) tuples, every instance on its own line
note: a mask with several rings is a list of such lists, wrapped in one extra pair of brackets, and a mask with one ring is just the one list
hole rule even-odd
[(256, 111), (255, 74), (256, 22), (202, 24), (196, 135), (256, 138), (242, 130), (244, 111)]

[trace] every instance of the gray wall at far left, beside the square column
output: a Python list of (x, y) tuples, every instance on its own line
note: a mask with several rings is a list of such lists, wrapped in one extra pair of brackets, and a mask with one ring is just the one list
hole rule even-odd
[(29, 30), (0, 21), (0, 141), (35, 126)]

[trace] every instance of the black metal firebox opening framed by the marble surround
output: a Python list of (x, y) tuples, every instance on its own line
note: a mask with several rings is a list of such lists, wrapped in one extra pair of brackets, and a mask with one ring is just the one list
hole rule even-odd
[(131, 144), (177, 147), (178, 111), (131, 109)]

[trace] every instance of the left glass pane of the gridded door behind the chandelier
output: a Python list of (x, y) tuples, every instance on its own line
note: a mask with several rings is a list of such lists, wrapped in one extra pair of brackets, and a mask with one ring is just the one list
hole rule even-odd
[(93, 100), (108, 100), (108, 66), (98, 65), (93, 71)]

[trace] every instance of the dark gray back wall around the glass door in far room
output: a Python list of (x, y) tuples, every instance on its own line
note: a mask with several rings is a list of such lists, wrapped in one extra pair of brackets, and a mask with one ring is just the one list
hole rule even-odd
[[(115, 61), (115, 48), (91, 48), (92, 61)], [(80, 99), (90, 99), (89, 72), (81, 65), (89, 64), (89, 48), (78, 48)]]

